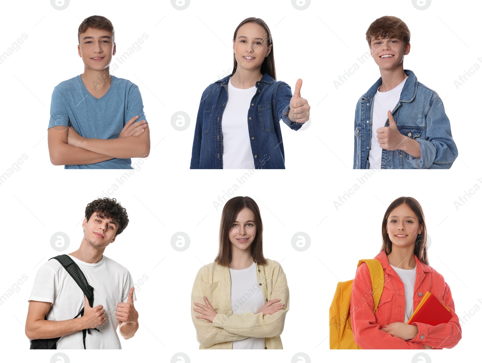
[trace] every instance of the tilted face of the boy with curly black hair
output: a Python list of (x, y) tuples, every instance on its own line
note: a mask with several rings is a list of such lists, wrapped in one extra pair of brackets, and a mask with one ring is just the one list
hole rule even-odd
[(117, 221), (102, 217), (97, 212), (94, 212), (88, 221), (87, 218), (84, 218), (82, 227), (84, 229), (84, 238), (92, 247), (106, 248), (110, 243), (114, 242), (119, 225)]

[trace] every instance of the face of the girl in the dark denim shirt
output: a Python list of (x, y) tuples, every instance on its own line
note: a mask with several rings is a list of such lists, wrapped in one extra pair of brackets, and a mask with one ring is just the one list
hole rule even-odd
[(261, 70), (265, 57), (271, 51), (265, 28), (256, 23), (241, 25), (233, 39), (233, 51), (238, 62), (237, 69)]

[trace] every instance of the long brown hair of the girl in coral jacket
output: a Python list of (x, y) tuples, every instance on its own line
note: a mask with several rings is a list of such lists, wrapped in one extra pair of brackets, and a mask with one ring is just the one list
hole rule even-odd
[(428, 265), (428, 255), (427, 255), (427, 227), (425, 225), (425, 215), (423, 214), (422, 206), (415, 198), (411, 196), (401, 196), (395, 199), (391, 204), (388, 206), (385, 215), (383, 216), (382, 222), (382, 239), (383, 244), (381, 251), (385, 251), (387, 255), (392, 250), (392, 243), (390, 238), (388, 237), (387, 233), (387, 224), (388, 224), (388, 216), (392, 212), (393, 209), (397, 208), (401, 204), (406, 204), (410, 207), (415, 213), (415, 216), (418, 218), (418, 223), (422, 226), (422, 233), (417, 236), (417, 241), (415, 243), (414, 254), (417, 256), (420, 262), (423, 262), (425, 265)]

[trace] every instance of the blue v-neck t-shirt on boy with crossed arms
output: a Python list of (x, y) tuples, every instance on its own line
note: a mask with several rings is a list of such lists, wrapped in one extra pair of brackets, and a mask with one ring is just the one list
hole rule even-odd
[[(106, 94), (92, 96), (80, 75), (54, 88), (50, 104), (49, 127), (73, 126), (80, 136), (89, 139), (117, 139), (125, 124), (138, 115), (146, 120), (139, 87), (111, 75)], [(147, 120), (146, 120), (147, 122)], [(66, 169), (132, 169), (131, 159), (110, 159), (89, 165), (66, 165)]]

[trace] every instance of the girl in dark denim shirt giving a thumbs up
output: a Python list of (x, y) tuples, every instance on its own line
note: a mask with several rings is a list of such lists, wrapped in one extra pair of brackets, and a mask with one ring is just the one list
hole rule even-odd
[(259, 18), (238, 25), (233, 53), (233, 73), (202, 93), (190, 168), (284, 169), (279, 121), (293, 130), (308, 121), (302, 81), (294, 95), (276, 81), (271, 32)]

